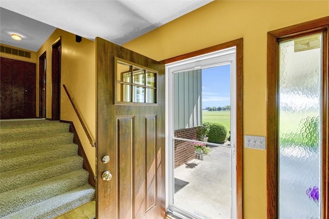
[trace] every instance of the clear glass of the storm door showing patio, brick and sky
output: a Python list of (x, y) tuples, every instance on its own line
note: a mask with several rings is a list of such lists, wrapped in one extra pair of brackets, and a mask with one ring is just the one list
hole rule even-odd
[(231, 218), (230, 65), (174, 74), (174, 112), (185, 109), (174, 127), (186, 121), (174, 135), (192, 141), (174, 142), (173, 203), (201, 218)]

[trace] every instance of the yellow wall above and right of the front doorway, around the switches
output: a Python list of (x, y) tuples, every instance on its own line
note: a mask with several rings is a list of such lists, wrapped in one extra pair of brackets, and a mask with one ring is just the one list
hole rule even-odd
[[(243, 37), (244, 134), (266, 135), (267, 32), (329, 15), (329, 1), (214, 1), (124, 47), (158, 61)], [(266, 218), (266, 151), (244, 149), (244, 218)]]

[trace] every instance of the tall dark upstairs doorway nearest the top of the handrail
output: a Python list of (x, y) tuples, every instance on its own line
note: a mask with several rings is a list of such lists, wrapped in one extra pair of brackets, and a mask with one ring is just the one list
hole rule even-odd
[(61, 118), (61, 38), (52, 44), (51, 51), (51, 120)]

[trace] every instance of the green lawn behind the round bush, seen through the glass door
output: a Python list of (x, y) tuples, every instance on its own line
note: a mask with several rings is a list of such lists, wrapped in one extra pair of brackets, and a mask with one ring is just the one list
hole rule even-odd
[(202, 123), (219, 123), (225, 126), (227, 135), (230, 131), (230, 111), (202, 111)]

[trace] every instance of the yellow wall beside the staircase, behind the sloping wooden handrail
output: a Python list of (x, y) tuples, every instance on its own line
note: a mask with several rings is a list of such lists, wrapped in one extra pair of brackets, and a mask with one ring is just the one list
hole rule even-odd
[[(96, 136), (96, 51), (95, 42), (82, 38), (80, 43), (76, 42), (76, 35), (56, 29), (44, 45), (36, 53), (38, 62), (36, 64), (36, 78), (39, 85), (39, 56), (45, 51), (46, 63), (46, 117), (51, 118), (51, 48), (54, 42), (61, 37), (61, 120), (72, 121), (77, 129), (80, 141), (83, 145), (88, 161), (95, 173), (95, 148), (93, 148), (86, 137), (76, 113), (69, 102), (63, 88), (66, 85), (73, 101), (75, 102), (84, 123), (90, 134)], [(39, 89), (36, 89), (36, 109), (39, 109)], [(39, 110), (37, 116), (39, 116)]]

